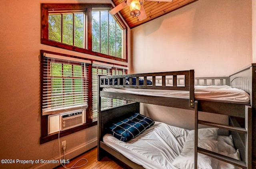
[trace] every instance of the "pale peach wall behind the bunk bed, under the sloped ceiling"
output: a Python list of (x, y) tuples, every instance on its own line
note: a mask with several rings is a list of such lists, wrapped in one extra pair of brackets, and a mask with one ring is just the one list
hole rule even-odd
[[(252, 63), (251, 0), (198, 0), (131, 31), (132, 73), (194, 69), (196, 77), (228, 76)], [(141, 109), (154, 120), (194, 128), (193, 111)], [(200, 113), (206, 117), (227, 124), (225, 116)]]

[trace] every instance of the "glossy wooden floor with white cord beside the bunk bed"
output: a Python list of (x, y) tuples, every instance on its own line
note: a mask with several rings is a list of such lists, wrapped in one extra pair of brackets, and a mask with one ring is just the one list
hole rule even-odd
[[(104, 157), (101, 161), (97, 160), (97, 147), (75, 157), (74, 159), (70, 160), (70, 163), (66, 164), (66, 168), (72, 167), (76, 161), (79, 159), (87, 159), (88, 163), (82, 167), (78, 167), (76, 169), (122, 169), (117, 163), (111, 160), (108, 157)], [(76, 166), (80, 166), (86, 163), (86, 160), (81, 160), (76, 163)], [(55, 169), (65, 169), (62, 165), (56, 167)]]

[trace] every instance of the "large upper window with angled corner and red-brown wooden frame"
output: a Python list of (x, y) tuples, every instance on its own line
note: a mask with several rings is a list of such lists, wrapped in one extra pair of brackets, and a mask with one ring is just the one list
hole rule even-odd
[(110, 4), (42, 4), (42, 43), (127, 62), (127, 27)]

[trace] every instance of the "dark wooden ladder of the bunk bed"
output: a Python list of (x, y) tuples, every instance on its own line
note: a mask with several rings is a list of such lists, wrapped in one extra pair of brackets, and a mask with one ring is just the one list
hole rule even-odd
[[(233, 159), (231, 157), (227, 157), (225, 155), (215, 153), (213, 151), (209, 151), (207, 149), (203, 149), (198, 147), (198, 124), (212, 126), (216, 128), (222, 128), (225, 130), (230, 130), (234, 132), (239, 132), (245, 134), (245, 161), (240, 161), (237, 159)], [(224, 124), (218, 124), (213, 122), (206, 122), (203, 120), (198, 120), (198, 101), (195, 101), (195, 152), (194, 152), (194, 168), (197, 168), (197, 153), (202, 153), (204, 155), (210, 156), (212, 158), (224, 161), (226, 163), (230, 163), (232, 165), (236, 165), (243, 169), (251, 169), (252, 168), (252, 108), (250, 106), (245, 106), (245, 128), (234, 127)]]

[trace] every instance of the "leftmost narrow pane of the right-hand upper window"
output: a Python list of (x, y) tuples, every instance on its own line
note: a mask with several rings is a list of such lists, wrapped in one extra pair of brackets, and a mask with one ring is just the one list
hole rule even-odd
[(100, 53), (100, 12), (92, 12), (92, 51)]

